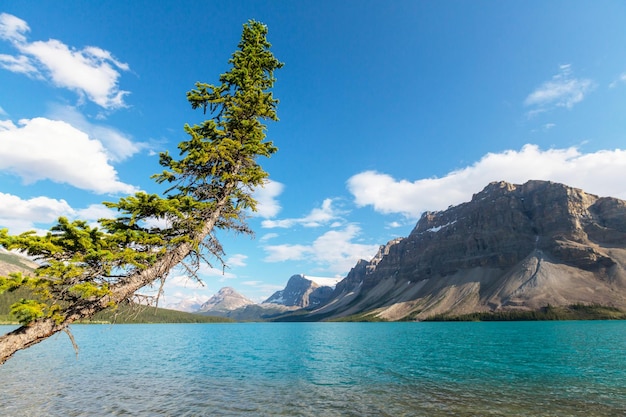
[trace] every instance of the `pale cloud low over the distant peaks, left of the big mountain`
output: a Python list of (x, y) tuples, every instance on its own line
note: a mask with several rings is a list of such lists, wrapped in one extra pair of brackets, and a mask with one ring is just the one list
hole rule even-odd
[(310, 245), (268, 245), (267, 262), (309, 260), (330, 274), (344, 274), (359, 259), (371, 259), (378, 251), (378, 245), (356, 243), (361, 228), (349, 224), (341, 230), (330, 230), (313, 241)]

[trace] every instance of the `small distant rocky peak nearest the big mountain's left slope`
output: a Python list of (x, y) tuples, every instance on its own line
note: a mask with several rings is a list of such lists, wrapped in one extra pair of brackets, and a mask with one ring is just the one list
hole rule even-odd
[(285, 289), (276, 291), (263, 304), (279, 304), (287, 307), (313, 308), (324, 304), (333, 292), (332, 287), (320, 286), (304, 275), (293, 275)]

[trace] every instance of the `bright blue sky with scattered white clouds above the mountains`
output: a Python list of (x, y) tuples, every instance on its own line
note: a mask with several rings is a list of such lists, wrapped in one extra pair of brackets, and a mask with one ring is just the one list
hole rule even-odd
[(207, 117), (186, 92), (218, 83), (249, 19), (285, 63), (255, 235), (219, 234), (226, 266), (204, 265), (204, 285), (173, 270), (160, 305), (343, 278), (492, 181), (626, 199), (623, 1), (14, 0), (0, 3), (0, 228), (95, 224), (115, 216), (103, 201), (162, 192), (159, 153)]

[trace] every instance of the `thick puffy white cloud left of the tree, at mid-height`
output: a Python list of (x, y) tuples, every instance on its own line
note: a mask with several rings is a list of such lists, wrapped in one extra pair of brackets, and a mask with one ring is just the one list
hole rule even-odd
[(98, 194), (137, 191), (118, 180), (102, 143), (66, 122), (38, 117), (16, 126), (0, 121), (0, 145), (0, 170), (25, 183), (49, 179)]

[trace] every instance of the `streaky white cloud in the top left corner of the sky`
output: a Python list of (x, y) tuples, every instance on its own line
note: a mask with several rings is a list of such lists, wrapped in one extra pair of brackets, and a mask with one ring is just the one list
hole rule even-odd
[(11, 42), (19, 53), (0, 55), (0, 68), (49, 80), (105, 109), (126, 105), (124, 97), (128, 91), (119, 89), (119, 78), (120, 71), (129, 70), (128, 64), (95, 46), (76, 49), (56, 39), (29, 42), (29, 31), (24, 20), (0, 14), (0, 39)]

